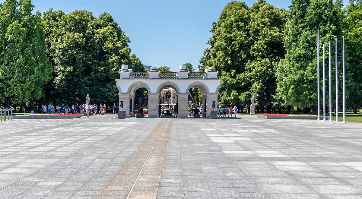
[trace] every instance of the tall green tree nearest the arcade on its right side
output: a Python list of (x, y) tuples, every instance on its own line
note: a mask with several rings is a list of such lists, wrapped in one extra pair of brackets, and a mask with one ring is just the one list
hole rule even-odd
[(218, 21), (212, 24), (210, 50), (206, 49), (200, 60), (199, 69), (213, 67), (219, 71), (219, 102), (224, 105), (241, 105), (240, 94), (249, 90), (237, 80), (250, 59), (249, 22), (249, 8), (244, 2), (228, 3)]

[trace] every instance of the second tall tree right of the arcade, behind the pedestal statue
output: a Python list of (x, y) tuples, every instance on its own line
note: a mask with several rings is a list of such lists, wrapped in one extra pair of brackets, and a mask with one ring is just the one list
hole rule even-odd
[(258, 0), (249, 13), (250, 59), (245, 64), (245, 72), (237, 75), (237, 80), (249, 90), (241, 93), (240, 101), (243, 104), (250, 103), (249, 99), (253, 94), (256, 105), (264, 106), (264, 92), (270, 101), (275, 94), (275, 67), (285, 54), (283, 29), (288, 12), (266, 3), (265, 0)]

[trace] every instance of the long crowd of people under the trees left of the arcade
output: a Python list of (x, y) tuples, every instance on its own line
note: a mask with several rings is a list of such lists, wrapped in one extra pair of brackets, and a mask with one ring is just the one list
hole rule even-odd
[[(42, 114), (87, 114), (87, 111), (90, 115), (105, 115), (107, 112), (107, 105), (106, 104), (72, 104), (69, 106), (68, 104), (59, 104), (58, 106), (54, 107), (54, 105), (42, 105), (41, 107)], [(111, 107), (111, 111), (113, 114), (118, 113), (118, 103), (113, 104)], [(31, 111), (31, 114), (34, 114), (34, 110)]]

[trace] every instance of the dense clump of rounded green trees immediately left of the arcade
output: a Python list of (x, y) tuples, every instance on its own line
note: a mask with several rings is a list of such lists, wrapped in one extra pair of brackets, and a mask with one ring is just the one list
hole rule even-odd
[(130, 55), (130, 39), (109, 13), (98, 18), (86, 10), (69, 14), (48, 10), (47, 54), (53, 64), (53, 80), (46, 87), (46, 98), (53, 102), (111, 103), (118, 99), (117, 79), (121, 64), (135, 72), (146, 71), (136, 55)]

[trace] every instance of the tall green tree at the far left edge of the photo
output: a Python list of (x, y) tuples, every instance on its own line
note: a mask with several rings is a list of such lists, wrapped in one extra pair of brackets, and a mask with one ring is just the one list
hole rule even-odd
[(5, 0), (0, 4), (0, 96), (10, 108), (12, 100), (39, 98), (50, 80), (51, 65), (45, 54), (44, 24), (30, 0)]

